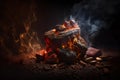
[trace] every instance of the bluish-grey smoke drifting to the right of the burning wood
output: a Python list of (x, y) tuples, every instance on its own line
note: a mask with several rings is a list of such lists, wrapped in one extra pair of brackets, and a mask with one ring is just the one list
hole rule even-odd
[(83, 0), (75, 4), (71, 15), (78, 21), (88, 46), (120, 48), (119, 0)]

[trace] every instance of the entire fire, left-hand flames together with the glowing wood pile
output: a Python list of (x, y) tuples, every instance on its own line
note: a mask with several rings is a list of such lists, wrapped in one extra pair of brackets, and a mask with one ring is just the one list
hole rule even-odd
[(74, 62), (85, 53), (85, 40), (80, 36), (80, 28), (74, 20), (65, 21), (62, 25), (57, 25), (55, 29), (46, 32), (45, 48), (40, 44), (37, 33), (30, 32), (29, 29), (29, 25), (26, 24), (26, 31), (20, 34), (20, 52), (25, 53), (23, 55), (25, 60), (41, 58), (46, 63), (58, 63), (66, 58), (67, 62), (72, 62), (71, 60)]

